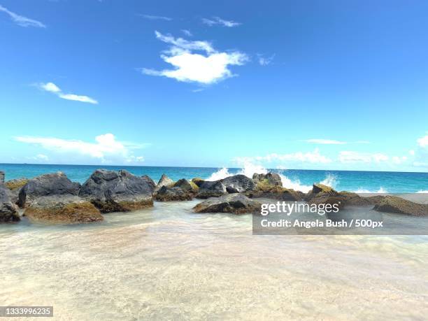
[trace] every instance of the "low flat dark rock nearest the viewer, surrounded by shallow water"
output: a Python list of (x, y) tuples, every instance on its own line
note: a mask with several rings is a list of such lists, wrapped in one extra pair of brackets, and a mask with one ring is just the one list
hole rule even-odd
[(194, 206), (197, 213), (252, 213), (259, 211), (262, 204), (243, 194), (227, 194), (222, 197), (212, 197)]

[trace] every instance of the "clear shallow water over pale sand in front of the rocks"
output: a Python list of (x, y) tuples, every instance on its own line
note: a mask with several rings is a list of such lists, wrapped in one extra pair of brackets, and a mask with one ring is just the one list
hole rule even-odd
[(426, 236), (253, 236), (251, 215), (195, 204), (1, 225), (2, 305), (54, 306), (53, 320), (427, 316)]

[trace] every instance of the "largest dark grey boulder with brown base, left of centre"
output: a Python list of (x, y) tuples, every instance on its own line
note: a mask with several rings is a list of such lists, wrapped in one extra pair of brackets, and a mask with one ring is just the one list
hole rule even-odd
[(101, 213), (127, 212), (153, 206), (150, 183), (124, 170), (97, 169), (82, 185), (79, 196), (92, 202)]

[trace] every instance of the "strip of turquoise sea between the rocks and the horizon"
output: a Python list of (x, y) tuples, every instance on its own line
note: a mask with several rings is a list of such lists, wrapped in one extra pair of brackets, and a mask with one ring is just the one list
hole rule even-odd
[[(0, 164), (0, 171), (6, 172), (6, 180), (13, 178), (33, 178), (35, 176), (63, 171), (76, 182), (83, 183), (99, 168), (126, 169), (135, 175), (148, 175), (157, 181), (165, 173), (173, 180), (194, 177), (218, 179), (235, 173), (252, 176), (261, 169), (218, 169), (203, 167), (161, 167), (161, 166), (91, 166), (91, 165), (46, 165), (46, 164)], [(266, 169), (264, 169), (266, 171)], [(313, 183), (324, 183), (336, 190), (355, 192), (421, 192), (428, 190), (428, 173), (401, 173), (376, 171), (312, 171), (273, 170), (283, 175), (285, 187), (306, 192)]]

